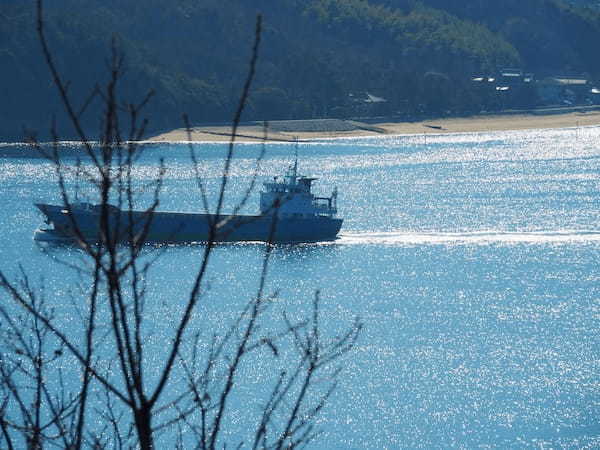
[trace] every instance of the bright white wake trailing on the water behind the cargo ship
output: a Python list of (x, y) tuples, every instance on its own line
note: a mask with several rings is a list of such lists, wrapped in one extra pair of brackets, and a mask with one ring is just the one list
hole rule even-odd
[(475, 231), (464, 233), (440, 232), (365, 232), (342, 233), (336, 244), (342, 245), (486, 245), (486, 244), (569, 244), (600, 242), (600, 231)]

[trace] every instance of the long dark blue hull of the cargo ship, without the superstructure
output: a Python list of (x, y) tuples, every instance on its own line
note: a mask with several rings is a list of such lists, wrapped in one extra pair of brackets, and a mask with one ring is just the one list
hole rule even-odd
[[(100, 207), (72, 208), (72, 216), (61, 206), (36, 204), (53, 229), (36, 232), (34, 239), (54, 241), (100, 241)], [(120, 242), (142, 239), (146, 243), (207, 242), (211, 224), (219, 224), (213, 242), (262, 241), (273, 243), (319, 242), (336, 239), (342, 219), (328, 216), (275, 217), (274, 215), (221, 215), (181, 212), (122, 212), (110, 207), (107, 214), (112, 239)], [(74, 224), (80, 236), (74, 231)]]

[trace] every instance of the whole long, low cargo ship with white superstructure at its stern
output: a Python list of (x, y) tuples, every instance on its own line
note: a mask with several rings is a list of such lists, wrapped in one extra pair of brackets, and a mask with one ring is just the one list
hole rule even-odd
[[(343, 219), (337, 218), (337, 189), (330, 197), (312, 193), (316, 178), (298, 175), (297, 160), (282, 177), (263, 183), (256, 215), (202, 214), (171, 211), (129, 211), (108, 204), (65, 206), (36, 203), (46, 226), (35, 231), (37, 241), (102, 242), (102, 228), (111, 241), (142, 243), (244, 242), (301, 243), (337, 237)], [(106, 234), (106, 231), (104, 231)]]

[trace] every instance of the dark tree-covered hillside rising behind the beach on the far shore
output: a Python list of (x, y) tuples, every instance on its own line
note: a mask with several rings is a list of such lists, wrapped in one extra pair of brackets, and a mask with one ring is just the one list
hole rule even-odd
[[(52, 0), (56, 61), (81, 99), (106, 78), (110, 41), (126, 54), (121, 93), (148, 108), (150, 130), (231, 118), (256, 14), (264, 17), (247, 120), (478, 111), (471, 82), (503, 67), (600, 77), (600, 14), (559, 0)], [(0, 3), (0, 138), (23, 127), (72, 136), (43, 64), (33, 0)], [(381, 99), (385, 99), (381, 101)], [(489, 103), (489, 102), (488, 102)], [(96, 105), (97, 106), (97, 105)], [(487, 105), (489, 108), (489, 104)], [(84, 122), (98, 126), (93, 108)]]

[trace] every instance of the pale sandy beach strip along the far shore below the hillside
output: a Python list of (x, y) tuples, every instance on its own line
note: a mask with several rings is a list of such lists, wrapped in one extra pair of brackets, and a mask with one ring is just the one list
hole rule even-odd
[[(424, 133), (471, 133), (544, 128), (568, 128), (600, 125), (600, 110), (567, 113), (534, 112), (519, 114), (476, 115), (432, 119), (419, 122), (364, 123), (342, 119), (286, 120), (268, 123), (269, 141), (313, 140), (324, 138), (403, 135)], [(236, 140), (253, 142), (264, 139), (261, 124), (238, 128)], [(230, 126), (203, 126), (192, 129), (192, 141), (223, 142), (231, 138)], [(152, 142), (187, 141), (185, 129), (177, 129), (148, 139)]]

